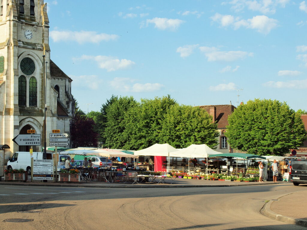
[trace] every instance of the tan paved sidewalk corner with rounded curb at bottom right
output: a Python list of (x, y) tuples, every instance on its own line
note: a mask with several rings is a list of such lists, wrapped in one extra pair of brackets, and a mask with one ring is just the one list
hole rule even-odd
[(288, 224), (307, 227), (307, 190), (279, 197), (269, 201), (262, 209), (263, 214)]

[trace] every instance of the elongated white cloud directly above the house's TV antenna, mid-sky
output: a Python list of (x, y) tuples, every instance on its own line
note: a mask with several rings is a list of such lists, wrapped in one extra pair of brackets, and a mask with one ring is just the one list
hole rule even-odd
[(247, 56), (253, 56), (253, 53), (248, 53), (245, 51), (218, 51), (216, 47), (206, 47), (202, 46), (199, 48), (201, 52), (204, 52), (208, 61), (235, 61), (243, 59)]

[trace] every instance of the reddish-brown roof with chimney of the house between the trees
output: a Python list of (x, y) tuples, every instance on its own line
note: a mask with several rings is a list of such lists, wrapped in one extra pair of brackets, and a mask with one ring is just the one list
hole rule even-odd
[(217, 128), (226, 128), (226, 126), (228, 125), (227, 118), (236, 108), (233, 105), (201, 105), (199, 107), (205, 109), (209, 114), (210, 108), (216, 107), (215, 121), (217, 123)]

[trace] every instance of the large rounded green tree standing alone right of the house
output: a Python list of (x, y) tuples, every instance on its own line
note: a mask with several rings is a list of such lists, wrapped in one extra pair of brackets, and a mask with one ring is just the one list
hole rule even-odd
[(239, 105), (228, 123), (228, 143), (250, 154), (283, 156), (306, 137), (300, 114), (277, 100), (255, 99)]

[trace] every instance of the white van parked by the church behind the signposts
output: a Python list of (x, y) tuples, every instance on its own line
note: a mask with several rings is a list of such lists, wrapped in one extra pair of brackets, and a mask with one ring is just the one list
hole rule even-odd
[[(33, 152), (33, 159), (42, 160), (43, 152)], [(47, 152), (47, 159), (52, 159), (52, 153)], [(7, 162), (7, 169), (23, 168), (28, 174), (31, 174), (31, 156), (30, 152), (15, 152), (12, 158)]]

